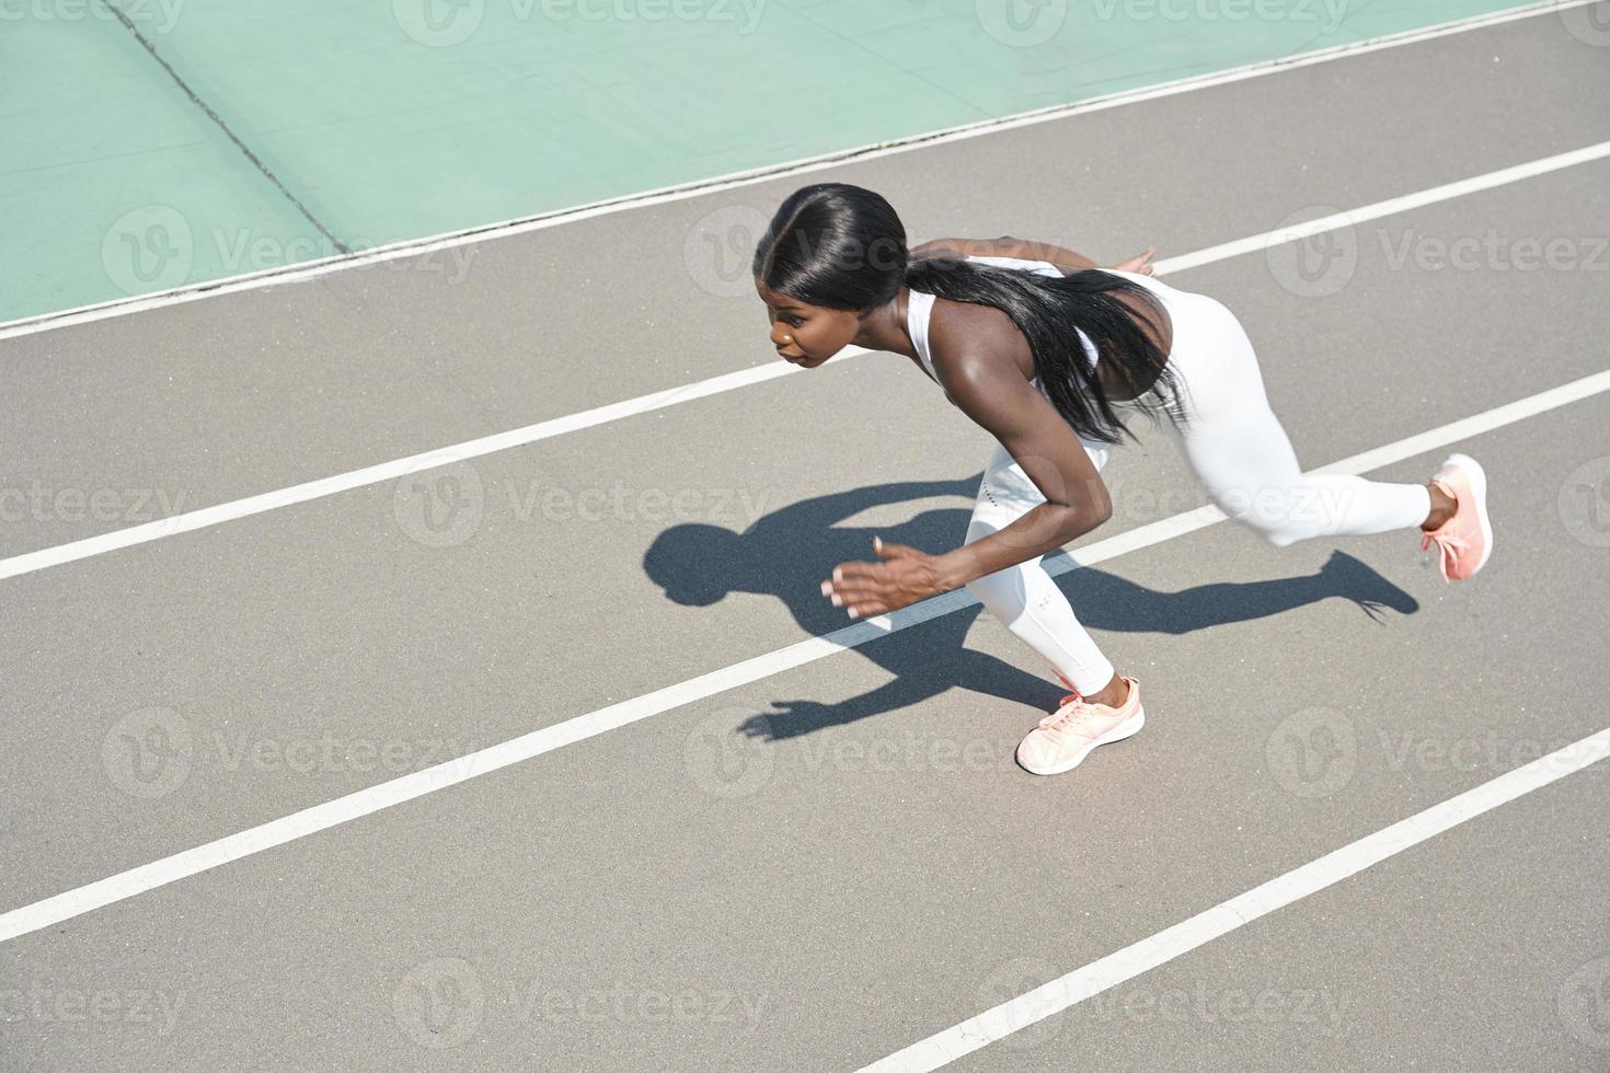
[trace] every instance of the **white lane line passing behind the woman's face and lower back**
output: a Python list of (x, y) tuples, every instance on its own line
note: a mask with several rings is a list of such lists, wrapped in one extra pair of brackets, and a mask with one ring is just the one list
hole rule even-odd
[[(1375, 204), (1365, 204), (1357, 209), (1349, 209), (1346, 212), (1327, 216), (1323, 219), (1312, 220), (1307, 224), (1283, 227), (1272, 232), (1264, 232), (1262, 235), (1253, 235), (1249, 238), (1241, 238), (1232, 243), (1211, 246), (1198, 253), (1182, 254), (1179, 257), (1169, 257), (1156, 262), (1156, 270), (1159, 275), (1166, 275), (1169, 272), (1196, 269), (1206, 264), (1214, 264), (1217, 261), (1227, 261), (1230, 257), (1238, 257), (1241, 254), (1269, 249), (1272, 246), (1278, 246), (1280, 243), (1298, 241), (1325, 230), (1351, 227), (1357, 222), (1375, 220), (1383, 216), (1389, 216), (1393, 212), (1407, 212), (1409, 209), (1418, 209), (1426, 204), (1435, 204), (1438, 201), (1449, 201), (1452, 198), (1460, 198), (1463, 195), (1475, 193), (1478, 190), (1491, 190), (1494, 187), (1520, 182), (1523, 179), (1533, 179), (1536, 175), (1560, 171), (1576, 164), (1584, 164), (1589, 161), (1604, 159), (1607, 156), (1610, 156), (1610, 142), (1600, 142), (1597, 145), (1583, 146), (1579, 150), (1571, 150), (1568, 153), (1557, 153), (1554, 156), (1546, 156), (1542, 159), (1530, 161), (1526, 164), (1504, 167), (1501, 171), (1488, 172), (1484, 175), (1473, 175), (1470, 179), (1462, 179), (1459, 182), (1444, 183), (1441, 187), (1433, 187), (1431, 190), (1423, 190), (1420, 193), (1404, 195), (1401, 198), (1389, 198), (1386, 201), (1377, 201)], [(840, 351), (839, 356), (834, 357), (832, 360), (845, 362), (848, 359), (861, 357), (873, 351), (865, 351), (858, 346), (852, 346)], [(37, 552), (24, 552), (23, 555), (13, 555), (10, 558), (0, 560), (0, 579), (16, 578), (19, 574), (27, 574), (37, 569), (47, 569), (50, 566), (60, 566), (63, 563), (72, 563), (76, 560), (90, 558), (93, 555), (105, 555), (106, 552), (116, 552), (119, 549), (134, 547), (137, 544), (148, 544), (150, 541), (159, 541), (163, 537), (177, 536), (180, 532), (193, 532), (196, 529), (216, 526), (224, 521), (233, 521), (237, 518), (261, 515), (264, 512), (277, 510), (280, 507), (290, 507), (293, 504), (306, 504), (308, 500), (312, 499), (324, 499), (325, 495), (335, 495), (336, 492), (346, 492), (356, 487), (364, 487), (367, 484), (391, 481), (401, 476), (407, 476), (409, 473), (419, 473), (420, 470), (451, 465), (454, 462), (462, 462), (465, 458), (478, 458), (481, 455), (489, 455), (497, 450), (509, 450), (512, 447), (523, 447), (539, 439), (549, 439), (552, 436), (560, 436), (564, 433), (573, 433), (576, 430), (592, 428), (609, 421), (634, 417), (638, 413), (647, 413), (650, 410), (663, 410), (667, 407), (681, 402), (691, 402), (694, 399), (704, 399), (705, 396), (721, 394), (723, 391), (733, 391), (736, 388), (744, 388), (766, 380), (776, 380), (778, 376), (791, 376), (803, 372), (807, 370), (797, 365), (791, 365), (787, 362), (768, 362), (766, 365), (741, 368), (733, 373), (723, 373), (720, 376), (712, 376), (710, 380), (700, 380), (691, 384), (684, 384), (681, 388), (668, 388), (665, 391), (655, 391), (652, 394), (638, 396), (636, 399), (610, 402), (609, 405), (601, 405), (592, 410), (583, 410), (580, 413), (572, 413), (568, 417), (557, 417), (547, 421), (538, 421), (536, 425), (526, 425), (525, 428), (515, 428), (507, 433), (494, 433), (491, 436), (481, 436), (480, 439), (470, 439), (462, 444), (454, 444), (451, 447), (438, 447), (435, 450), (409, 455), (407, 458), (398, 458), (394, 462), (382, 462), (372, 467), (364, 467), (361, 470), (338, 473), (335, 476), (320, 478), (317, 481), (308, 481), (304, 484), (295, 484), (291, 487), (283, 487), (274, 492), (248, 495), (246, 499), (237, 499), (227, 504), (217, 504), (214, 507), (203, 507), (201, 510), (192, 510), (172, 515), (169, 518), (161, 518), (158, 521), (147, 521), (145, 524), (130, 526), (127, 529), (114, 529), (111, 532), (101, 532), (100, 536), (85, 537), (82, 541), (71, 541), (68, 544), (58, 544), (55, 547), (39, 549)]]

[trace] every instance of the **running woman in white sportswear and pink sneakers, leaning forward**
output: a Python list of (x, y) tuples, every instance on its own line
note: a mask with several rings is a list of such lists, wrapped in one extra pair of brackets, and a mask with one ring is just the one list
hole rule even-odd
[(881, 561), (840, 563), (821, 590), (858, 618), (966, 586), (1072, 690), (1018, 746), (1038, 775), (1145, 724), (1140, 684), (1114, 671), (1040, 561), (1111, 516), (1100, 473), (1122, 436), (1135, 439), (1125, 413), (1166, 415), (1212, 502), (1275, 547), (1418, 528), (1444, 582), (1492, 550), (1486, 475), (1467, 455), (1426, 484), (1304, 475), (1240, 322), (1153, 278), (1151, 253), (1101, 269), (1016, 238), (908, 251), (890, 204), (847, 183), (792, 193), (755, 249), (784, 360), (816, 368), (850, 344), (903, 354), (995, 438), (963, 547), (927, 555), (874, 539)]

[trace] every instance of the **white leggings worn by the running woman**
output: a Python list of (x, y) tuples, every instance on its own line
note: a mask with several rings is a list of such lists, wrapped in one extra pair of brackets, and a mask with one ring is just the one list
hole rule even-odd
[[(1261, 532), (1275, 547), (1322, 536), (1418, 528), (1426, 520), (1431, 494), (1423, 484), (1383, 484), (1346, 475), (1304, 476), (1291, 441), (1269, 409), (1257, 357), (1235, 315), (1206, 294), (1124, 275), (1164, 298), (1174, 325), (1169, 365), (1183, 381), (1188, 423), (1177, 436), (1167, 420), (1162, 426), (1212, 502), (1230, 518)], [(1133, 425), (1127, 413), (1125, 423)], [(1111, 446), (1088, 439), (1084, 444), (1100, 470)], [(1040, 489), (997, 444), (979, 484), (968, 542), (1006, 528), (1042, 502)], [(1038, 557), (979, 578), (968, 589), (1080, 693), (1096, 693), (1113, 679), (1113, 664)]]

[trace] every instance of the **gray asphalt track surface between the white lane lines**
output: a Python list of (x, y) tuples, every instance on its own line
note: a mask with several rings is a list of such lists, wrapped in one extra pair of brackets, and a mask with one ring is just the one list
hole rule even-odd
[[(456, 282), (438, 254), (6, 339), (0, 457), (124, 513), (227, 502), (774, 360), (699, 236), (802, 182), (913, 240), (1166, 257), (1604, 142), (1607, 90), (1610, 51), (1531, 18), (488, 240)], [(1315, 467), (1605, 368), (1607, 219), (1599, 161), (1359, 225), (1323, 294), (1278, 253), (1170, 283), (1243, 319)], [(1523, 240), (1571, 257), (1517, 270)], [(1460, 444), (1496, 529), (1465, 586), (1410, 532), (1233, 524), (1064, 574), (1148, 713), (1069, 775), (1013, 764), (1063, 690), (968, 608), (14, 938), (0, 1063), (877, 1060), (1600, 730), (1607, 423), (1599, 394)], [(1204, 502), (1141, 436), (1087, 541)], [(388, 483), (0, 582), (0, 911), (832, 632), (818, 581), (874, 532), (955, 547), (989, 447), (855, 357), (477, 458), (446, 537)], [(130, 523), (48, 502), (0, 552)], [(156, 783), (153, 719), (188, 735)], [(956, 1068), (1610, 1068), (1607, 791), (1591, 766)]]

